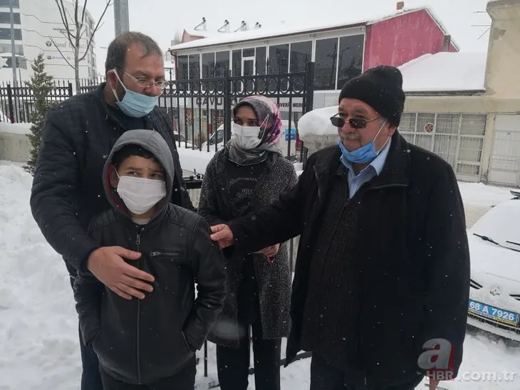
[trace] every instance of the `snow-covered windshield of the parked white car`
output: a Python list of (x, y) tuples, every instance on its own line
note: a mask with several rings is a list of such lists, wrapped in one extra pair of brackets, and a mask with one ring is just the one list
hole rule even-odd
[(520, 251), (520, 199), (494, 206), (472, 226), (470, 233), (484, 241)]

